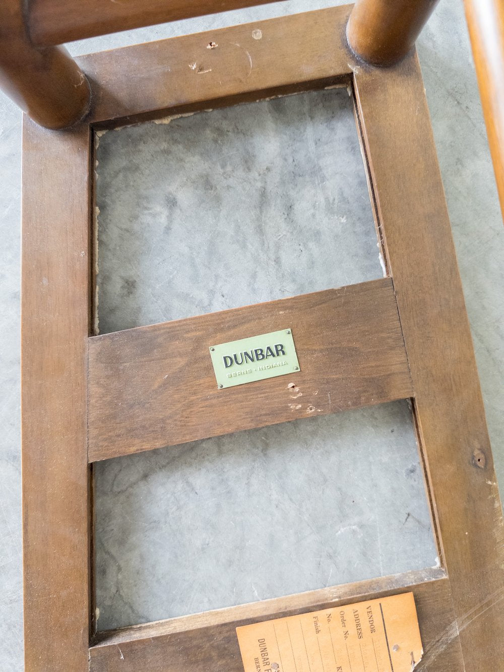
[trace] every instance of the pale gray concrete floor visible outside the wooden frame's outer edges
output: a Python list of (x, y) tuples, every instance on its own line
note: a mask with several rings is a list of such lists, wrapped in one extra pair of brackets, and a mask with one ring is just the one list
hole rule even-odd
[[(72, 54), (85, 54), (331, 4), (341, 2), (290, 0), (83, 40), (69, 45), (69, 48)], [(440, 2), (417, 46), (474, 337), (497, 478), (503, 482), (504, 227), (463, 3), (460, 0)], [(3, 429), (0, 438), (1, 669), (2, 672), (19, 672), (23, 669), (18, 345), (21, 114), (1, 92), (0, 159), (0, 381), (3, 390), (0, 404)], [(335, 155), (335, 162), (337, 159)], [(161, 454), (162, 451), (159, 452)], [(405, 528), (409, 523), (405, 524)], [(125, 614), (124, 620), (131, 622), (137, 617), (139, 620), (140, 614)]]

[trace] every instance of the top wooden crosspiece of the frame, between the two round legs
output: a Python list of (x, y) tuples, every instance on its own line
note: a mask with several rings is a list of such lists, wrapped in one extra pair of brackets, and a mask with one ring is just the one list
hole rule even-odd
[[(89, 123), (112, 126), (346, 85), (356, 62), (345, 44), (350, 9), (332, 7), (81, 56), (77, 62), (93, 91)], [(208, 49), (210, 42), (218, 46)]]

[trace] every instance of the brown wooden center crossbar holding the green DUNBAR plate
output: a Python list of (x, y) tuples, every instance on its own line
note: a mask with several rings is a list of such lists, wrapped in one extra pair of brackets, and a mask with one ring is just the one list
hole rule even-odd
[[(300, 372), (217, 388), (210, 345), (280, 329)], [(118, 331), (89, 339), (89, 461), (412, 394), (388, 278)]]

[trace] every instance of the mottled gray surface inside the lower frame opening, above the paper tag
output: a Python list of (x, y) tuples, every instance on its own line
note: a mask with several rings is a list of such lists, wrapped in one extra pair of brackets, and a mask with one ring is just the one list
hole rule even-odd
[(436, 564), (407, 402), (96, 465), (99, 628)]

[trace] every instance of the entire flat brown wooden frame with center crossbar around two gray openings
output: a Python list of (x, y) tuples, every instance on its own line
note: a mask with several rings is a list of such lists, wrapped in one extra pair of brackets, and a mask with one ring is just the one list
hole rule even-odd
[[(425, 649), (417, 669), (497, 669), (504, 641), (502, 509), (419, 63), (415, 52), (381, 69), (358, 60), (345, 37), (350, 9), (84, 56), (77, 62), (92, 90), (85, 122), (54, 132), (24, 118), (24, 618), (30, 672), (238, 672), (239, 625), (409, 590)], [(96, 132), (336, 85), (353, 97), (388, 278), (261, 310), (251, 306), (94, 336)], [(295, 417), (286, 414), (284, 378), (216, 390), (208, 358), (210, 341), (224, 334), (231, 340), (282, 328), (280, 307), (296, 321), (302, 370), (296, 380), (308, 390), (320, 384), (346, 408), (413, 399), (439, 567), (95, 634), (92, 462)], [(320, 343), (310, 325), (326, 339), (319, 352), (329, 371), (323, 380), (312, 356)], [(189, 333), (203, 367), (198, 390), (194, 370), (184, 374), (173, 364), (173, 344)], [(169, 372), (169, 383), (160, 391), (159, 373), (142, 364), (139, 396), (133, 370), (149, 352)], [(166, 415), (163, 400), (184, 395), (190, 415), (181, 415), (177, 403)], [(130, 413), (120, 412), (119, 398)], [(247, 422), (250, 414), (242, 411), (250, 410), (252, 398), (267, 398), (271, 411)], [(222, 399), (233, 414), (226, 415)], [(335, 410), (320, 407), (321, 413)], [(140, 411), (150, 428), (144, 439)]]

